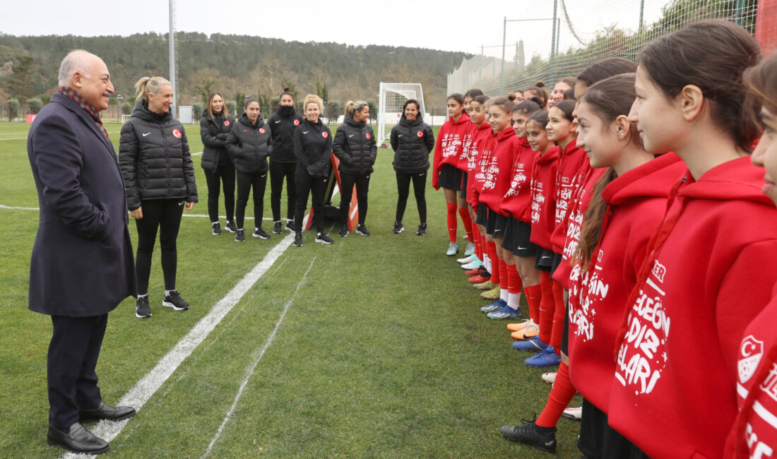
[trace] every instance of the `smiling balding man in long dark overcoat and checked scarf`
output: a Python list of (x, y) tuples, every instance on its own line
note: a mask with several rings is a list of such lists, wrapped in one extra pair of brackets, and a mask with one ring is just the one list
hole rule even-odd
[(82, 422), (135, 414), (103, 403), (95, 372), (108, 312), (136, 294), (124, 183), (99, 117), (112, 92), (102, 59), (71, 52), (60, 65), (59, 91), (27, 138), (40, 203), (30, 310), (51, 315), (54, 325), (47, 443), (89, 454), (110, 446)]

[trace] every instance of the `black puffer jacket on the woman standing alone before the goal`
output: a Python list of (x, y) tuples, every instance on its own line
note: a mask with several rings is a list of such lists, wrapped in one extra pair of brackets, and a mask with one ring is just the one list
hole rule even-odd
[(423, 122), (419, 113), (416, 119), (408, 121), (405, 113), (399, 124), (392, 127), (391, 148), (394, 149), (394, 170), (415, 174), (429, 170), (429, 153), (434, 149), (432, 127)]

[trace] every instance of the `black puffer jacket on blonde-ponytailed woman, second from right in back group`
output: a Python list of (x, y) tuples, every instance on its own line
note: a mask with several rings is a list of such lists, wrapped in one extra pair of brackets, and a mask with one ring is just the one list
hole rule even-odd
[(343, 124), (337, 128), (332, 150), (340, 159), (340, 170), (347, 174), (371, 174), (378, 144), (372, 127), (364, 122), (356, 122), (353, 114), (347, 115)]

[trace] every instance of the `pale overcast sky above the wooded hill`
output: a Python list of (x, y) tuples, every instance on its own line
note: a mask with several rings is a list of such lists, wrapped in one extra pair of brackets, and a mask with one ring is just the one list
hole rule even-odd
[[(169, 1), (0, 0), (0, 33), (9, 35), (121, 35), (169, 30)], [(660, 15), (668, 0), (646, 0), (645, 21)], [(639, 0), (566, 0), (577, 35), (585, 42), (612, 23), (639, 27)], [(444, 5), (444, 6), (442, 6)], [(577, 43), (564, 19), (560, 48)], [(235, 33), (302, 42), (382, 44), (499, 56), (503, 18), (549, 19), (552, 0), (460, 0), (393, 2), (263, 2), (259, 0), (177, 0), (176, 30)], [(507, 23), (507, 57), (524, 40), (527, 61), (549, 53), (552, 22)]]

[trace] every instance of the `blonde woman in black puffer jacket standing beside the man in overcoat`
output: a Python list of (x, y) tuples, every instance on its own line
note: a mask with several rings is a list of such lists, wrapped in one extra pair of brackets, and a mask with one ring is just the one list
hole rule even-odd
[(172, 85), (162, 77), (145, 77), (135, 83), (138, 104), (119, 139), (119, 167), (124, 177), (127, 209), (138, 228), (138, 302), (135, 316), (150, 317), (148, 278), (156, 232), (162, 247), (165, 296), (162, 306), (176, 311), (189, 303), (176, 291), (178, 250), (176, 239), (183, 208), (197, 203), (197, 185), (183, 124), (170, 112)]

